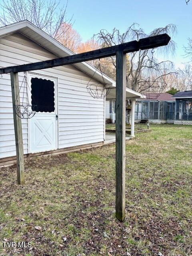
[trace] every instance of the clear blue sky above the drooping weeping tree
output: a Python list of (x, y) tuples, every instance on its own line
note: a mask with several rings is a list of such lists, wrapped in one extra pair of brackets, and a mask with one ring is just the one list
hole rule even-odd
[(116, 27), (121, 32), (132, 23), (139, 23), (145, 32), (154, 28), (175, 24), (177, 44), (174, 57), (176, 66), (186, 62), (183, 45), (192, 37), (192, 0), (68, 0), (68, 17), (74, 15), (74, 28), (86, 41), (101, 29), (109, 31)]

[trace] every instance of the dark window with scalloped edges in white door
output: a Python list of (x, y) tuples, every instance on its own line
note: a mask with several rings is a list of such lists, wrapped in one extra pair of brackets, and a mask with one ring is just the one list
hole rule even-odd
[(54, 112), (54, 82), (42, 78), (31, 78), (32, 110)]

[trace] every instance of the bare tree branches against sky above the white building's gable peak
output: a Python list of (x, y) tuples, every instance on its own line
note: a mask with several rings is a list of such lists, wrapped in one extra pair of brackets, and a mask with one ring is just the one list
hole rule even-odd
[(60, 31), (62, 24), (70, 23), (72, 20), (72, 18), (66, 18), (67, 2), (57, 11), (59, 4), (60, 2), (57, 0), (3, 0), (0, 4), (2, 8), (0, 24), (5, 26), (22, 20), (29, 20), (58, 40), (65, 33), (64, 30)]

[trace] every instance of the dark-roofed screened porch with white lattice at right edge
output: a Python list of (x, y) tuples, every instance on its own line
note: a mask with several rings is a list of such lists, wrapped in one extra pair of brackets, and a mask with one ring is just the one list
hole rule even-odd
[(192, 124), (192, 91), (177, 92), (172, 96), (176, 99), (176, 124)]

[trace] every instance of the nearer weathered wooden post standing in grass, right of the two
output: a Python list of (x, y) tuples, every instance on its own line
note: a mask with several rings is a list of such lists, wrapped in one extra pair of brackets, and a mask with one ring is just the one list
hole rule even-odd
[(116, 218), (125, 218), (126, 54), (116, 52)]

